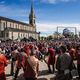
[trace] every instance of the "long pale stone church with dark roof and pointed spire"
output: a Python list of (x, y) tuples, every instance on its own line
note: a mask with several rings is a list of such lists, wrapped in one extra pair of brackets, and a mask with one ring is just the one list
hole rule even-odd
[(32, 5), (29, 14), (29, 24), (0, 16), (0, 38), (15, 40), (18, 38), (33, 37), (38, 40), (39, 33), (36, 32), (35, 19), (36, 17)]

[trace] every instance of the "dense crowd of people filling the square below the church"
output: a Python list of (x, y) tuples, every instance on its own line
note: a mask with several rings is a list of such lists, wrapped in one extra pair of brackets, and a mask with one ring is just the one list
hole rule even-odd
[[(6, 80), (5, 67), (9, 62), (11, 62), (10, 74), (14, 76), (13, 80), (17, 79), (20, 69), (23, 69), (25, 80), (37, 80), (39, 61), (42, 60), (47, 64), (48, 73), (54, 74), (57, 69), (55, 80), (71, 80), (70, 72), (73, 69), (78, 71), (78, 79), (80, 79), (79, 41), (11, 41), (0, 43), (0, 80)], [(77, 67), (74, 60), (77, 60)]]

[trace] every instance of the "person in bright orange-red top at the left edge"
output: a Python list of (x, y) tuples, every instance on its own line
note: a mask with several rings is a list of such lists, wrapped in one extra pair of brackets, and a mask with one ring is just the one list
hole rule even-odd
[(6, 80), (5, 67), (8, 65), (6, 57), (1, 53), (0, 48), (0, 80)]

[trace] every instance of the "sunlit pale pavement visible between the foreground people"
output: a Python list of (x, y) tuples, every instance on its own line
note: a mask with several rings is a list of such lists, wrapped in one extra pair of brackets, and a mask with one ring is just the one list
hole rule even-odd
[[(23, 71), (20, 70), (19, 72), (19, 77), (17, 80), (24, 80), (22, 79), (22, 74)], [(6, 68), (6, 75), (7, 75), (7, 80), (12, 80), (12, 76), (9, 75), (10, 74), (10, 64), (8, 65), (8, 67)], [(40, 73), (39, 73), (39, 80), (54, 80), (53, 77), (55, 75), (54, 74), (49, 74), (48, 73), (48, 68), (47, 68), (47, 64), (45, 62), (40, 62)]]

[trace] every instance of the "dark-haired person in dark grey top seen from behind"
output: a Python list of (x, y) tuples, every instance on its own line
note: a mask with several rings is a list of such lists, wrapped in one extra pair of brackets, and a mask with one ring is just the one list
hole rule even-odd
[(70, 80), (69, 70), (72, 58), (66, 52), (66, 47), (63, 45), (60, 47), (60, 52), (61, 54), (59, 54), (56, 61), (56, 69), (58, 70), (56, 80)]

